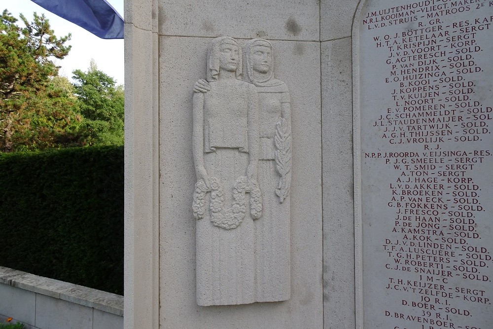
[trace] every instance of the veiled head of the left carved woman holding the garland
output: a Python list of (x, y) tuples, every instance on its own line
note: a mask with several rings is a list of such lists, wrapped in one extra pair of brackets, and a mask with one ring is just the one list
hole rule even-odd
[(242, 50), (232, 37), (212, 39), (207, 52), (207, 81), (217, 81), (219, 71), (235, 72), (242, 75)]

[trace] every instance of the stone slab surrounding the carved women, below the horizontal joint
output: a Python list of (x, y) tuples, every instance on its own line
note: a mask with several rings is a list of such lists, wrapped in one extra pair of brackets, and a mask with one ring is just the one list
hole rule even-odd
[[(291, 299), (197, 307), (191, 191), (192, 86), (205, 77), (207, 38), (161, 37), (161, 323), (170, 327), (322, 326), (319, 44), (271, 41), (275, 75), (289, 81), (292, 111)], [(177, 60), (180, 59), (180, 60)], [(296, 87), (296, 86), (304, 86)], [(298, 154), (298, 155), (297, 155)], [(307, 200), (310, 200), (308, 202)], [(313, 205), (318, 206), (313, 206)], [(316, 288), (318, 287), (318, 288)], [(296, 310), (296, 311), (295, 311)], [(293, 328), (294, 328), (293, 327)]]

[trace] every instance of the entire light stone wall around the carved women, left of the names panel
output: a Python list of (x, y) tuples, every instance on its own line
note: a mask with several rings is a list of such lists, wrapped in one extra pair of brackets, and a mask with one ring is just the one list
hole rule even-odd
[[(351, 32), (357, 4), (126, 1), (125, 328), (355, 327)], [(218, 36), (269, 39), (275, 75), (290, 89), (289, 301), (213, 307), (195, 301), (192, 86), (205, 77), (207, 46)]]

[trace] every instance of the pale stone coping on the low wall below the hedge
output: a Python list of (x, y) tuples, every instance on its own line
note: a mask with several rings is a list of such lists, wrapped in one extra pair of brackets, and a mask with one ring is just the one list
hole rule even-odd
[(0, 283), (123, 316), (123, 296), (0, 266)]

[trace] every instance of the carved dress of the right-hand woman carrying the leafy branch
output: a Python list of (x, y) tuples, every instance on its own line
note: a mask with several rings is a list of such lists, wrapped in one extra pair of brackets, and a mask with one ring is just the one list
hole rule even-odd
[(287, 193), (281, 202), (276, 194), (280, 174), (276, 167), (275, 135), (282, 120), (282, 104), (289, 103), (290, 99), (287, 86), (280, 80), (256, 83), (256, 89), (260, 112), (258, 182), (262, 190), (263, 215), (254, 222), (255, 251), (258, 255), (255, 299), (280, 301), (289, 299), (291, 292), (290, 199)]

